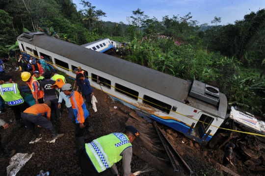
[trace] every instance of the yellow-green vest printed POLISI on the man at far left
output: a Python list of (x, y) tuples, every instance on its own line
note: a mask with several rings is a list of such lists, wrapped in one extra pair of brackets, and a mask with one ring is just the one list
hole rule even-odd
[(0, 85), (0, 94), (4, 102), (9, 106), (15, 106), (24, 102), (23, 97), (20, 95), (18, 84), (8, 83)]

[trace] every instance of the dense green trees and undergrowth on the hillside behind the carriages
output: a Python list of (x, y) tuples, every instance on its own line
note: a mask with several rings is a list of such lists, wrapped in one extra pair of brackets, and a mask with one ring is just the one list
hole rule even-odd
[(13, 50), (16, 37), (27, 29), (51, 36), (57, 32), (62, 40), (67, 37), (78, 45), (108, 37), (129, 43), (123, 59), (216, 86), (230, 104), (264, 116), (265, 80), (260, 74), (265, 63), (265, 9), (223, 26), (218, 25), (220, 17), (213, 17), (212, 26), (198, 25), (191, 13), (159, 21), (132, 9), (124, 24), (104, 22), (108, 14), (100, 7), (80, 3), (83, 10), (77, 11), (72, 0), (1, 0), (1, 53)]

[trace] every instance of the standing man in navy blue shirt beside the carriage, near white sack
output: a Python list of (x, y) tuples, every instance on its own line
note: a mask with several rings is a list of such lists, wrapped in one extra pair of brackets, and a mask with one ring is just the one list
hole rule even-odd
[(82, 88), (80, 90), (80, 94), (84, 95), (86, 103), (88, 104), (88, 109), (92, 109), (91, 95), (93, 96), (94, 93), (93, 93), (92, 87), (90, 85), (90, 82), (89, 82), (88, 79), (86, 79), (84, 77), (83, 74), (78, 74), (77, 76), (78, 76), (79, 79), (82, 80)]

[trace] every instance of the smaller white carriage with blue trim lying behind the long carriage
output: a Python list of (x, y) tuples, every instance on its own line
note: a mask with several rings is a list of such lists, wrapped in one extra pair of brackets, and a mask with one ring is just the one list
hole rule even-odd
[(94, 42), (90, 42), (90, 43), (81, 45), (81, 47), (95, 50), (98, 52), (106, 52), (106, 51), (114, 48), (114, 46), (112, 45), (112, 43), (110, 43), (110, 40), (108, 38), (99, 39), (99, 40), (96, 40)]

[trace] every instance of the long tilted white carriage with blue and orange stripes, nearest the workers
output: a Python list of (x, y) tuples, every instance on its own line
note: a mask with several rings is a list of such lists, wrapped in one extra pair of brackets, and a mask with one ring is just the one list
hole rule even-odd
[(72, 70), (81, 66), (92, 87), (199, 143), (211, 140), (227, 117), (225, 95), (205, 83), (191, 83), (42, 32), (24, 33), (17, 40), (20, 50), (45, 54), (51, 67), (70, 78), (76, 76)]

